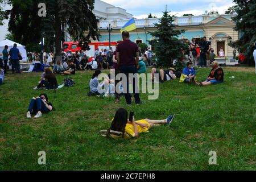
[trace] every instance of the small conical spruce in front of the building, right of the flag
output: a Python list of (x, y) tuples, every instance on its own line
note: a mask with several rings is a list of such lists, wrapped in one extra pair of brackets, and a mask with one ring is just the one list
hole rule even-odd
[(155, 23), (156, 31), (150, 32), (151, 36), (155, 38), (150, 41), (150, 44), (154, 47), (160, 67), (170, 67), (174, 59), (179, 59), (182, 56), (182, 43), (177, 36), (184, 30), (174, 30), (174, 17), (165, 11), (159, 23)]

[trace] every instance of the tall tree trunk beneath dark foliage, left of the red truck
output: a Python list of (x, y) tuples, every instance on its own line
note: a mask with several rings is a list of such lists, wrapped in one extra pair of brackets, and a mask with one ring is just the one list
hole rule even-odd
[(61, 61), (61, 21), (59, 18), (59, 15), (57, 14), (58, 11), (56, 11), (55, 14), (55, 47), (56, 47), (56, 52), (55, 52), (55, 58), (56, 58), (56, 63), (57, 60)]

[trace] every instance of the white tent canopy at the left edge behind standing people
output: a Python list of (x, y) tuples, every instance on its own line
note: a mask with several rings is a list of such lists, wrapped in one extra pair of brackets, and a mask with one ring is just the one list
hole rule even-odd
[(19, 49), (20, 55), (22, 56), (22, 61), (27, 61), (27, 50), (25, 46), (22, 46), (22, 44), (15, 43), (11, 40), (3, 40), (0, 42), (0, 57), (3, 58), (3, 49), (5, 46), (8, 46), (8, 51), (10, 51), (11, 48), (13, 48), (13, 45), (17, 44), (17, 48)]

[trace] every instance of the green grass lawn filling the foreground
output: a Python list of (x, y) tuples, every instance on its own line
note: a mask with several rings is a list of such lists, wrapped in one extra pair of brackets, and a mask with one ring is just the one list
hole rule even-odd
[[(246, 71), (249, 69), (249, 71)], [(204, 80), (210, 69), (197, 72)], [(256, 76), (252, 68), (226, 68), (225, 83), (201, 88), (178, 80), (160, 84), (159, 99), (126, 106), (122, 97), (87, 97), (92, 72), (72, 76), (73, 88), (32, 90), (41, 73), (9, 74), (0, 86), (1, 170), (255, 170)], [(234, 79), (229, 78), (235, 76)], [(57, 76), (59, 84), (64, 76)], [(56, 111), (26, 119), (30, 99), (46, 92)], [(102, 138), (115, 111), (135, 119), (176, 117), (137, 139)], [(46, 151), (47, 164), (38, 164)], [(217, 152), (217, 165), (208, 155)]]

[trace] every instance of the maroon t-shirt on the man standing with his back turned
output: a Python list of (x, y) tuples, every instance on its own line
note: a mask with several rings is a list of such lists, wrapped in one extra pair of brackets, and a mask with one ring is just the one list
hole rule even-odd
[(136, 65), (135, 57), (139, 52), (137, 44), (131, 40), (123, 40), (118, 44), (117, 52), (119, 52), (120, 65)]

